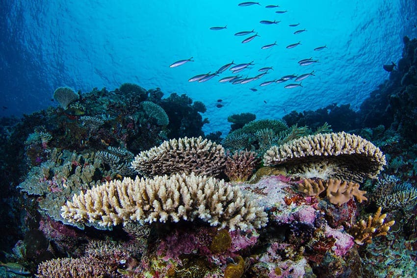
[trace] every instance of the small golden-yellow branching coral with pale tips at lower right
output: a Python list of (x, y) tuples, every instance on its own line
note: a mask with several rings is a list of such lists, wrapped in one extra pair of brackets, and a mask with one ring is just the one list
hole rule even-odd
[(348, 232), (355, 238), (355, 243), (363, 245), (364, 243), (371, 243), (372, 238), (387, 235), (390, 227), (395, 224), (395, 221), (384, 223), (387, 214), (381, 214), (382, 208), (379, 207), (372, 217), (369, 215), (368, 220), (358, 221), (353, 225)]

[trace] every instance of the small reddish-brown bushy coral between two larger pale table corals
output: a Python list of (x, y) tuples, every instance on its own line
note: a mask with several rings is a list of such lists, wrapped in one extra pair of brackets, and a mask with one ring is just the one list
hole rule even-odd
[(225, 174), (232, 181), (245, 181), (252, 176), (259, 161), (256, 152), (236, 151), (227, 157)]

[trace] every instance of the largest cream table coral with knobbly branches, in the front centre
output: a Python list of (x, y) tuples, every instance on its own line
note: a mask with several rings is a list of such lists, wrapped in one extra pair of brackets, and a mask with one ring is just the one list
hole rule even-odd
[(238, 187), (193, 173), (112, 180), (73, 196), (61, 211), (69, 222), (88, 221), (101, 226), (199, 218), (211, 226), (246, 230), (267, 222), (263, 207)]

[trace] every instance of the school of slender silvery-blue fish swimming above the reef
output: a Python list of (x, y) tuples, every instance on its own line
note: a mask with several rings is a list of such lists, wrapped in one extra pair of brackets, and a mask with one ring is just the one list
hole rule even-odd
[[(248, 1), (248, 2), (241, 2), (238, 4), (238, 6), (240, 7), (247, 7), (247, 6), (253, 6), (253, 5), (257, 5), (257, 6), (262, 6), (260, 2), (252, 2), (252, 1)], [(276, 8), (280, 8), (279, 5), (266, 5), (265, 8), (267, 9), (276, 9)], [(287, 13), (287, 10), (276, 10), (275, 13), (276, 14), (284, 14)], [(277, 21), (277, 20), (261, 20), (260, 24), (263, 25), (277, 25), (277, 24), (282, 24), (282, 21)], [(295, 31), (293, 32), (294, 35), (299, 35), (302, 34), (304, 32), (307, 31), (306, 28), (299, 28), (298, 26), (300, 25), (300, 23), (288, 23), (288, 26), (290, 28), (294, 28)], [(298, 28), (295, 28), (298, 27)], [(224, 29), (228, 29), (227, 25), (224, 26), (213, 26), (209, 28), (210, 30), (213, 31), (220, 31), (220, 30), (224, 30)], [(256, 28), (253, 28), (251, 31), (239, 31), (236, 32), (234, 35), (235, 36), (246, 36), (243, 40), (242, 40), (242, 44), (246, 44), (246, 43), (250, 43), (251, 41), (255, 40), (257, 37), (261, 37), (260, 34), (258, 34), (258, 32), (255, 31)], [(302, 45), (301, 44), (301, 40), (299, 40), (296, 43), (290, 44), (286, 46), (286, 49), (292, 49), (292, 48), (296, 48), (298, 46)], [(266, 50), (266, 49), (271, 49), (271, 48), (276, 48), (276, 46), (278, 46), (277, 41), (275, 41), (274, 43), (270, 43), (270, 44), (266, 44), (264, 46), (261, 47), (262, 50)], [(317, 46), (316, 48), (314, 48), (312, 51), (322, 51), (324, 49), (327, 49), (327, 46)], [(189, 58), (189, 59), (183, 59), (183, 60), (179, 60), (176, 61), (174, 63), (172, 63), (169, 67), (170, 68), (174, 68), (174, 67), (178, 67), (181, 66), (187, 62), (193, 62), (193, 57)], [(301, 67), (305, 67), (305, 66), (310, 66), (313, 64), (319, 63), (318, 59), (314, 59), (313, 57), (310, 58), (305, 58), (302, 59), (300, 61), (298, 61), (299, 66)], [(272, 66), (262, 66), (258, 72), (260, 72), (259, 75), (257, 76), (246, 76), (243, 77), (244, 75), (237, 75), (238, 73), (253, 68), (253, 66), (255, 66), (255, 61), (251, 61), (249, 63), (240, 63), (237, 64), (235, 63), (235, 60), (233, 60), (230, 63), (227, 63), (223, 66), (221, 66), (218, 70), (216, 70), (215, 72), (211, 72), (209, 71), (206, 74), (199, 74), (196, 76), (193, 76), (191, 78), (188, 79), (189, 82), (206, 82), (209, 81), (210, 79), (212, 79), (215, 76), (219, 76), (220, 79), (218, 80), (218, 82), (220, 83), (232, 83), (232, 85), (236, 85), (236, 84), (247, 84), (250, 82), (254, 82), (257, 81), (261, 78), (263, 78), (265, 75), (269, 74), (270, 71), (273, 71), (273, 67)], [(227, 70), (229, 70), (231, 72), (230, 76), (225, 76), (222, 77), (220, 76), (221, 74), (223, 74), (224, 72), (226, 72)], [(289, 80), (294, 80), (295, 82), (299, 82), (299, 83), (290, 83), (284, 86), (285, 89), (291, 89), (291, 88), (299, 88), (299, 87), (303, 87), (301, 85), (301, 81), (310, 77), (310, 76), (315, 76), (314, 75), (314, 71), (312, 70), (311, 72), (304, 72), (300, 75), (286, 75), (286, 76), (282, 76), (280, 78), (267, 78), (268, 80), (264, 80), (261, 81), (260, 83), (258, 83), (259, 87), (263, 87), (263, 86), (268, 86), (271, 85), (273, 83), (284, 83), (287, 82)], [(257, 86), (255, 86), (257, 87)], [(255, 87), (250, 88), (251, 91), (256, 92), (258, 91), (258, 89), (256, 89)], [(265, 102), (266, 103), (266, 102)], [(222, 104), (217, 104), (217, 107), (220, 108), (221, 106), (223, 106)]]

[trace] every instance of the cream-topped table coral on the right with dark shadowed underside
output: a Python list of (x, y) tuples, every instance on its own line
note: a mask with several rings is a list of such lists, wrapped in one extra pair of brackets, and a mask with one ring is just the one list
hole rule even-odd
[(345, 132), (301, 137), (263, 156), (264, 165), (283, 165), (304, 177), (339, 178), (362, 182), (375, 178), (386, 164), (385, 155), (371, 142)]

